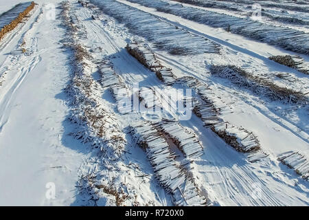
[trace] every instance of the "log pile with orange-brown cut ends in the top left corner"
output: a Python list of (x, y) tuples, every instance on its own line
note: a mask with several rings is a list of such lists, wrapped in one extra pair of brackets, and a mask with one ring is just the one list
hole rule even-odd
[(34, 8), (34, 5), (35, 5), (34, 1), (32, 1), (31, 3), (19, 3), (18, 5), (16, 5), (14, 8), (9, 10), (8, 12), (5, 12), (4, 14), (1, 14), (0, 21), (2, 23), (2, 20), (6, 20), (7, 19), (5, 17), (11, 17), (11, 14), (14, 14), (14, 13), (19, 12), (20, 10), (22, 10), (14, 19), (12, 19), (12, 21), (9, 21), (8, 24), (6, 24), (3, 27), (1, 27), (1, 30), (0, 30), (0, 41), (1, 41), (1, 39), (3, 39), (5, 34), (7, 34), (8, 32), (12, 31), (14, 28), (16, 28), (17, 25), (19, 25), (19, 23), (21, 23), (21, 21), (23, 21), (23, 18), (25, 18), (27, 16), (27, 14), (29, 14), (29, 12)]

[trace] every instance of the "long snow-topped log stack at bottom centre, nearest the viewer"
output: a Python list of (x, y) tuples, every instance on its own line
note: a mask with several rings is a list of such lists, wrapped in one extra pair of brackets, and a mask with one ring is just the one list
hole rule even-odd
[(205, 206), (203, 197), (192, 175), (176, 165), (174, 153), (162, 133), (150, 123), (141, 122), (132, 128), (137, 144), (146, 151), (159, 184), (172, 195), (175, 206)]

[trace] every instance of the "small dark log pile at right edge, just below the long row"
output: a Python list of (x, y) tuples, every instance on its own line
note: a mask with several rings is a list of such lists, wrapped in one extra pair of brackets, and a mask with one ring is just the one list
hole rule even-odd
[(301, 56), (295, 55), (285, 55), (285, 56), (271, 56), (269, 57), (272, 61), (280, 63), (282, 65), (286, 65), (287, 67), (291, 67), (296, 69), (299, 72), (304, 74), (309, 74), (309, 64), (304, 61)]

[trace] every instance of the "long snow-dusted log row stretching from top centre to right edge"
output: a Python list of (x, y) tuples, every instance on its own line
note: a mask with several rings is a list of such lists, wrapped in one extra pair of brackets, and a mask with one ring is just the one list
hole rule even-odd
[[(279, 25), (271, 25), (252, 19), (234, 17), (229, 14), (192, 8), (181, 4), (172, 4), (163, 0), (129, 0), (159, 12), (174, 14), (213, 28), (222, 28), (233, 34), (240, 34), (264, 43), (277, 45), (286, 50), (309, 54), (309, 33)], [(183, 0), (186, 1), (186, 0)], [(304, 9), (304, 8), (303, 8)]]

